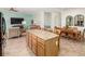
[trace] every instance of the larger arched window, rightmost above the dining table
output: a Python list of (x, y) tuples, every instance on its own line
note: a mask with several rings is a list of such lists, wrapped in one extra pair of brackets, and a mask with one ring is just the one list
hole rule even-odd
[(75, 15), (74, 17), (74, 25), (75, 26), (84, 26), (84, 15)]

